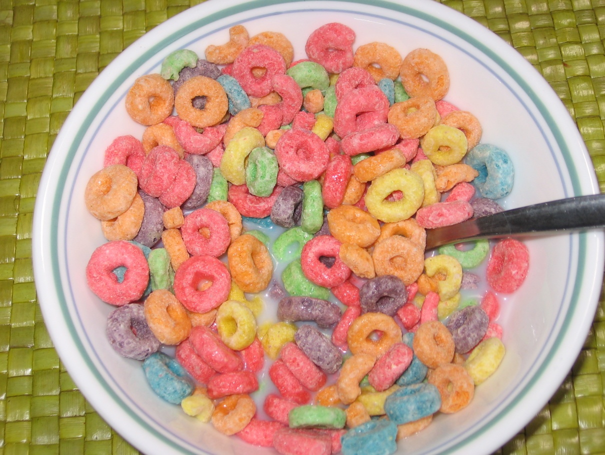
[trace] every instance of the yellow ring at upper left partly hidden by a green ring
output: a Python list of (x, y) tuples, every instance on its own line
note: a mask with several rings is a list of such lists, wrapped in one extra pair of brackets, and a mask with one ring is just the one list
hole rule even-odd
[(246, 157), (253, 148), (264, 147), (264, 137), (256, 128), (244, 127), (233, 136), (221, 159), (221, 173), (234, 185), (246, 183)]

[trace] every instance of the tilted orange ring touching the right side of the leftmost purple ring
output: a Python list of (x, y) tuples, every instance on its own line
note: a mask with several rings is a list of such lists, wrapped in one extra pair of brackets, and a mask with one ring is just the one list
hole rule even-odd
[(143, 305), (147, 325), (160, 342), (177, 345), (189, 336), (191, 320), (183, 304), (170, 291), (153, 291)]

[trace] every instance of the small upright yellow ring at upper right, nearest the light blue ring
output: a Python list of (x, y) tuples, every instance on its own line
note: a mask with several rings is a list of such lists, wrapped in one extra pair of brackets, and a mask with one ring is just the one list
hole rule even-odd
[(458, 128), (437, 125), (420, 139), (420, 147), (434, 164), (448, 166), (464, 158), (467, 150), (466, 136)]

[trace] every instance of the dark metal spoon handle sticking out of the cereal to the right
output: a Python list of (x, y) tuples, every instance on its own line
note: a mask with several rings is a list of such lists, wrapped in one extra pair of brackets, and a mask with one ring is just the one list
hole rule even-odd
[(427, 229), (427, 250), (484, 238), (605, 227), (605, 194), (513, 208), (459, 224)]

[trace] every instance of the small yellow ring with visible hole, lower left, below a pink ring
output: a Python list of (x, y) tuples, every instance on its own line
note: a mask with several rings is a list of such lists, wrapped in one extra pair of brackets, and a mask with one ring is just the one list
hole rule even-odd
[(246, 305), (228, 300), (218, 307), (217, 331), (227, 347), (241, 351), (254, 341), (257, 321)]

